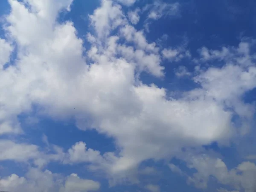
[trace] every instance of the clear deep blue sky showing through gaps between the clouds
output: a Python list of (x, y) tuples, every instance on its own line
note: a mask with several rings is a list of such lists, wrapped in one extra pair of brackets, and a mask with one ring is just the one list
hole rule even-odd
[[(176, 2), (173, 0), (164, 0), (166, 3)], [(150, 3), (152, 0), (139, 0), (134, 7), (125, 8), (134, 9), (135, 7), (141, 7), (145, 3)], [(146, 33), (148, 41), (156, 41), (162, 35), (167, 34), (169, 38), (165, 41), (164, 47), (179, 46), (184, 38), (188, 40), (187, 49), (192, 53), (192, 57), (198, 56), (197, 50), (203, 46), (209, 49), (220, 49), (222, 46), (237, 46), (240, 42), (241, 36), (247, 36), (255, 38), (256, 35), (256, 2), (254, 0), (179, 0), (181, 5), (180, 15), (181, 17), (175, 18), (162, 18), (151, 23), (151, 31)], [(99, 6), (99, 0), (74, 0), (71, 12), (61, 13), (58, 20), (65, 22), (71, 20), (76, 27), (77, 34), (80, 38), (85, 40), (85, 35), (90, 28), (88, 27), (88, 14), (92, 14), (93, 10)], [(0, 1), (0, 15), (8, 14), (9, 5), (6, 0)], [(142, 15), (140, 23), (137, 24), (138, 29), (143, 29), (143, 21), (146, 15)], [(3, 30), (0, 29), (0, 37), (3, 38)], [(89, 48), (90, 45), (84, 41), (84, 47)], [(179, 65), (185, 65), (189, 70), (192, 70), (195, 65), (191, 62), (180, 61), (177, 64), (171, 64), (165, 61), (164, 66), (166, 68), (166, 77), (164, 80), (155, 79), (152, 76), (143, 74), (142, 78), (145, 83), (154, 82), (160, 87), (166, 87), (169, 90), (190, 90), (197, 86), (189, 79), (177, 79), (174, 76), (173, 70)], [(248, 102), (255, 100), (255, 91), (248, 93), (245, 96)], [(31, 114), (32, 116), (34, 114)], [(63, 122), (54, 121), (52, 119), (41, 119), (38, 125), (27, 125), (24, 122), (25, 116), (19, 117), (21, 125), (25, 129), (27, 135), (22, 136), (19, 140), (27, 141), (41, 146), (45, 144), (42, 142), (41, 137), (46, 134), (49, 143), (60, 145), (65, 150), (70, 148), (71, 145), (78, 141), (84, 141), (87, 146), (101, 151), (113, 151), (115, 146), (113, 145), (113, 139), (107, 138), (104, 135), (98, 134), (96, 131), (80, 131), (78, 130), (73, 121), (68, 121), (66, 124)], [(16, 138), (17, 139), (17, 138)], [(253, 143), (253, 139), (252, 143)], [(245, 146), (245, 145), (244, 145)], [(233, 168), (238, 162), (241, 162), (241, 157), (237, 156), (237, 150), (235, 148), (223, 148), (219, 147), (217, 143), (205, 146), (207, 150), (211, 149), (217, 151), (224, 157), (224, 162), (227, 163), (229, 168)], [(241, 147), (244, 148), (244, 147)], [(239, 150), (239, 149), (238, 149)], [(242, 150), (242, 149), (240, 149)], [(173, 160), (174, 163), (180, 165), (185, 169), (185, 165), (179, 160)], [(25, 168), (20, 168), (19, 165), (6, 161), (0, 164), (3, 166), (1, 174), (3, 176), (9, 175), (14, 171), (17, 174), (23, 175)], [(92, 178), (99, 180), (97, 175), (93, 175), (90, 172), (81, 169), (85, 165), (76, 166), (62, 166), (58, 163), (50, 163), (47, 168), (52, 172), (60, 172), (66, 175), (77, 172), (81, 177)], [(155, 183), (161, 186), (161, 189), (169, 192), (170, 189), (174, 191), (189, 191), (200, 192), (201, 190), (195, 189), (193, 186), (186, 185), (186, 178), (177, 177), (166, 166), (166, 163), (159, 162), (153, 163), (151, 161), (144, 162), (142, 166), (154, 166), (164, 177), (156, 179), (154, 176), (150, 178), (145, 176), (142, 178), (143, 182), (154, 180)], [(8, 167), (9, 169), (6, 169)], [(191, 171), (192, 173), (192, 171)], [(140, 190), (140, 186), (116, 186), (112, 189), (108, 189), (108, 183), (103, 178), (102, 192), (119, 192), (119, 191), (136, 191)], [(211, 186), (214, 185), (214, 186)], [(216, 183), (212, 181), (209, 186), (209, 190), (214, 191), (216, 189)]]

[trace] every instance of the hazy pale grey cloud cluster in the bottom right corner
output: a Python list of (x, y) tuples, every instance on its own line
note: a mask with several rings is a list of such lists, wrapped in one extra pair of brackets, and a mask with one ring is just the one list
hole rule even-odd
[[(207, 154), (192, 155), (185, 158), (189, 169), (196, 169), (192, 176), (181, 171), (177, 166), (170, 164), (172, 172), (187, 177), (187, 183), (194, 184), (198, 188), (205, 189), (210, 177), (215, 177), (219, 183), (227, 185), (238, 191), (254, 192), (256, 189), (255, 176), (256, 165), (251, 162), (242, 162), (236, 168), (228, 170), (226, 164), (220, 158), (210, 157)], [(226, 192), (225, 189), (219, 189)]]

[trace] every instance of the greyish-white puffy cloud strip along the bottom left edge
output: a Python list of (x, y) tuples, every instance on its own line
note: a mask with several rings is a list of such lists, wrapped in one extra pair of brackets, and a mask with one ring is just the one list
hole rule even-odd
[(98, 191), (100, 184), (93, 180), (81, 179), (76, 174), (63, 177), (49, 170), (42, 172), (31, 168), (24, 177), (12, 174), (0, 178), (0, 188), (11, 192), (92, 192)]

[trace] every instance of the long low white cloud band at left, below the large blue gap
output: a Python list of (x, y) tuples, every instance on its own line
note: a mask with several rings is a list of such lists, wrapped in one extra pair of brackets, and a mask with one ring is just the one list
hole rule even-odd
[(93, 163), (99, 165), (99, 163), (106, 163), (106, 159), (100, 155), (99, 151), (87, 148), (83, 142), (75, 143), (65, 152), (63, 148), (50, 144), (46, 135), (43, 135), (42, 141), (47, 145), (47, 148), (26, 143), (15, 143), (10, 140), (0, 140), (0, 161), (12, 160), (31, 164), (38, 168), (43, 168), (50, 161), (64, 164)]

